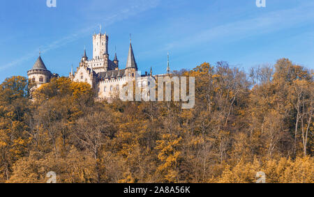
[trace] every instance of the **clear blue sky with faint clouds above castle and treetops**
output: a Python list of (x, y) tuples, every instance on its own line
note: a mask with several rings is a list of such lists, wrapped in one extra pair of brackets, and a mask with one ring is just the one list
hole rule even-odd
[(248, 69), (278, 58), (314, 68), (314, 2), (311, 0), (10, 0), (0, 7), (0, 81), (26, 76), (38, 49), (47, 68), (68, 76), (92, 34), (109, 34), (110, 57), (126, 65), (129, 34), (139, 70), (195, 68), (227, 61)]

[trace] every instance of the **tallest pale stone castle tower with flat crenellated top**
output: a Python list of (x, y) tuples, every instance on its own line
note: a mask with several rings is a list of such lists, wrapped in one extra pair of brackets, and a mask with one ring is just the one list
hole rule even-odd
[(99, 32), (93, 36), (93, 59), (103, 58), (108, 54), (108, 36)]

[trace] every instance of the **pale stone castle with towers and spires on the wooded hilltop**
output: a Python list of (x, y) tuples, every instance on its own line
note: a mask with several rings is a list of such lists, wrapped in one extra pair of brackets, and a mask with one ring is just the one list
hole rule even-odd
[[(167, 73), (170, 72), (169, 67), (169, 54)], [(137, 76), (137, 63), (133, 53), (132, 43), (128, 49), (128, 59), (126, 61), (126, 68), (119, 68), (119, 60), (117, 53), (114, 54), (114, 60), (111, 61), (108, 54), (108, 36), (103, 33), (94, 33), (93, 35), (93, 58), (89, 60), (87, 57), (86, 49), (84, 55), (80, 60), (79, 67), (73, 72), (73, 67), (69, 74), (69, 78), (76, 82), (86, 82), (91, 85), (94, 90), (95, 97), (99, 100), (110, 99), (113, 94), (119, 90), (124, 84), (127, 83), (128, 77), (137, 77), (138, 85), (146, 85), (148, 77), (156, 79), (157, 75), (153, 75), (152, 69), (150, 72), (145, 72)], [(42, 58), (39, 57), (33, 68), (27, 72), (29, 81), (36, 84), (36, 88), (42, 84), (49, 83), (52, 77), (59, 77), (58, 74), (52, 74), (47, 70)], [(163, 75), (163, 74), (160, 74)], [(146, 83), (146, 84), (145, 84)]]

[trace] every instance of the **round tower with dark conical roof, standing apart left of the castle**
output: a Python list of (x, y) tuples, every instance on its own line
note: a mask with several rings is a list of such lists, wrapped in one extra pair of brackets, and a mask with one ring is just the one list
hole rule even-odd
[(50, 81), (52, 73), (47, 70), (45, 63), (43, 63), (43, 59), (40, 56), (40, 52), (37, 61), (33, 65), (33, 68), (27, 71), (27, 76), (29, 77), (29, 81), (31, 81), (33, 84), (36, 84), (36, 87), (39, 87), (41, 84), (46, 84)]

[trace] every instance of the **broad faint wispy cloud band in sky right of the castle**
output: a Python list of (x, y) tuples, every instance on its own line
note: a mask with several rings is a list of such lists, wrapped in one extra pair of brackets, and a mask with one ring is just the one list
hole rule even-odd
[(167, 43), (163, 49), (160, 50), (177, 49), (216, 40), (232, 42), (250, 36), (281, 31), (282, 29), (287, 29), (304, 22), (313, 22), (313, 8), (314, 3), (307, 3), (297, 8), (278, 10), (271, 13), (265, 12), (259, 17), (223, 24), (195, 33), (195, 35), (188, 35), (181, 40)]

